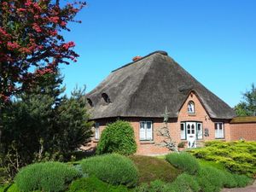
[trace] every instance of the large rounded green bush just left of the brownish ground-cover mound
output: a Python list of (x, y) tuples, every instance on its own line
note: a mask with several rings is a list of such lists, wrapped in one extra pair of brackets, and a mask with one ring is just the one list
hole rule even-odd
[(133, 187), (137, 184), (138, 172), (134, 163), (120, 154), (104, 154), (81, 161), (82, 170), (95, 175), (104, 182)]

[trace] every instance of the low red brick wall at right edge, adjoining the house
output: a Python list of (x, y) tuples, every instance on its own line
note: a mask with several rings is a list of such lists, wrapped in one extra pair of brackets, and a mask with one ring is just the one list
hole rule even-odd
[(256, 123), (230, 124), (230, 139), (256, 141)]

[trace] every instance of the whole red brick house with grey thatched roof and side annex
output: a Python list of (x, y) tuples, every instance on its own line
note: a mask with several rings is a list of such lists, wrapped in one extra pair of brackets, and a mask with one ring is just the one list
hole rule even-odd
[[(231, 121), (236, 114), (224, 101), (193, 78), (165, 51), (155, 51), (110, 73), (86, 95), (95, 124), (96, 146), (109, 122), (131, 122), (137, 154), (166, 154), (157, 143), (166, 125), (172, 141), (195, 148), (208, 140), (256, 139), (255, 122)], [(163, 123), (165, 109), (168, 118)], [(168, 120), (167, 120), (168, 119)], [(236, 121), (236, 122), (235, 122)], [(236, 123), (236, 124), (235, 124)]]

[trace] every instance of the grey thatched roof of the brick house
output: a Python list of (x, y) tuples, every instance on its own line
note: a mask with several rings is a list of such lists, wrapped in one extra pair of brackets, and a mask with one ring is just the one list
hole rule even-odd
[(91, 119), (161, 118), (166, 107), (169, 116), (177, 118), (190, 91), (195, 91), (199, 96), (211, 118), (235, 117), (232, 108), (207, 90), (165, 51), (156, 51), (119, 67), (91, 90), (86, 98), (93, 105), (90, 109)]

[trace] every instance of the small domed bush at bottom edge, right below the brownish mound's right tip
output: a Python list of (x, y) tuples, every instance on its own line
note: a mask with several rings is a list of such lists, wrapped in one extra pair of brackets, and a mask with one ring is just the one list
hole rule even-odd
[(177, 192), (199, 192), (201, 189), (200, 185), (196, 182), (195, 177), (187, 173), (179, 175), (171, 184), (171, 187), (171, 189)]

